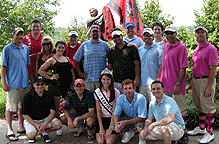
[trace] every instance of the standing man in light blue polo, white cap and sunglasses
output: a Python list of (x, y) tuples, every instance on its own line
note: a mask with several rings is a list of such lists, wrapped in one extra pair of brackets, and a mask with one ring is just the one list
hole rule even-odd
[(143, 94), (149, 103), (153, 95), (150, 85), (160, 77), (161, 65), (163, 60), (163, 49), (153, 42), (154, 32), (151, 28), (143, 31), (144, 46), (138, 49), (141, 60), (141, 83), (139, 92)]

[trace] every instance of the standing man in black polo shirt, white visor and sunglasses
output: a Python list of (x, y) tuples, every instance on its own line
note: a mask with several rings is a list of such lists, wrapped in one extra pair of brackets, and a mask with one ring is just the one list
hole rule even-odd
[(119, 28), (112, 30), (115, 49), (111, 49), (108, 58), (108, 68), (113, 70), (115, 87), (122, 93), (122, 81), (131, 79), (135, 86), (140, 84), (140, 63), (138, 49), (135, 46), (128, 46), (123, 41), (122, 31)]

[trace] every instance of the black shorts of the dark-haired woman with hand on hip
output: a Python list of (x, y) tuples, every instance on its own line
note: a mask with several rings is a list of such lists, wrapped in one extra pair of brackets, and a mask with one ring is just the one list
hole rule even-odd
[(54, 97), (62, 96), (62, 98), (66, 98), (68, 91), (70, 91), (70, 86), (68, 87), (60, 87), (53, 84), (49, 84), (48, 91), (52, 93)]

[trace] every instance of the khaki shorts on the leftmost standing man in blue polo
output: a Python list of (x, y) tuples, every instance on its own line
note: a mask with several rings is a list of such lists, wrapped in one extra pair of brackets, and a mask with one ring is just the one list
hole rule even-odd
[(21, 108), (23, 97), (30, 91), (29, 87), (10, 89), (6, 92), (6, 110), (11, 112), (18, 111)]

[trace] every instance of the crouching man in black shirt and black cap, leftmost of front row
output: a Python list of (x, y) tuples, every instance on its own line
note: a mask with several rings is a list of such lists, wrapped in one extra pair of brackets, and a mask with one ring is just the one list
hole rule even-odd
[(48, 133), (61, 129), (62, 123), (55, 118), (55, 100), (52, 94), (44, 90), (46, 86), (43, 77), (34, 79), (34, 91), (27, 93), (22, 101), (24, 127), (29, 143), (36, 142), (37, 131), (41, 133), (45, 143), (51, 142)]

